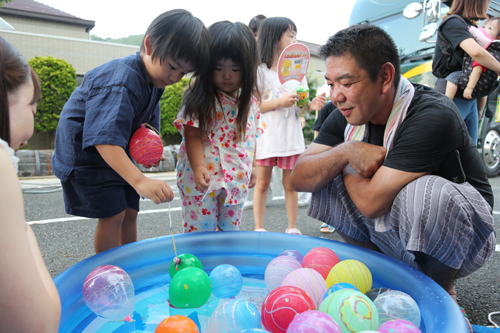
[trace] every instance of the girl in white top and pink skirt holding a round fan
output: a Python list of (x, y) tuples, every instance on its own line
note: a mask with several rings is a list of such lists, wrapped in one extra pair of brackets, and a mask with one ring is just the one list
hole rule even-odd
[[(296, 42), (297, 28), (286, 17), (271, 17), (259, 28), (259, 49), (262, 65), (259, 66), (259, 90), (262, 96), (261, 112), (265, 112), (268, 129), (257, 140), (257, 184), (254, 189), (253, 211), (255, 231), (264, 229), (266, 195), (273, 167), (283, 170), (283, 188), (288, 217), (286, 233), (301, 234), (297, 229), (298, 196), (290, 184), (290, 174), (299, 155), (304, 152), (304, 136), (296, 113), (298, 97), (286, 92), (278, 78), (278, 60), (282, 51)], [(300, 83), (308, 87), (304, 77)], [(326, 102), (324, 94), (313, 99), (309, 111), (320, 110)]]

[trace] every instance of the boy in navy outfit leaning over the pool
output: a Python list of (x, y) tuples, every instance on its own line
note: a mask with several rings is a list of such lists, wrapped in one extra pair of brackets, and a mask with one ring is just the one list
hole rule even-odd
[(171, 201), (163, 180), (149, 179), (130, 157), (129, 141), (143, 123), (159, 130), (164, 87), (204, 71), (208, 31), (190, 12), (158, 16), (140, 52), (85, 74), (60, 115), (52, 167), (66, 212), (98, 218), (96, 253), (137, 240), (139, 196)]

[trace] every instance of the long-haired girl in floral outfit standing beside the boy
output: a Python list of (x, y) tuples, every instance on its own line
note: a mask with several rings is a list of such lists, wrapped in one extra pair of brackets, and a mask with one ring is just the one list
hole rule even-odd
[(256, 86), (259, 53), (243, 23), (209, 28), (210, 64), (184, 94), (174, 122), (183, 135), (177, 185), (184, 232), (238, 230), (255, 185), (255, 141), (262, 133)]

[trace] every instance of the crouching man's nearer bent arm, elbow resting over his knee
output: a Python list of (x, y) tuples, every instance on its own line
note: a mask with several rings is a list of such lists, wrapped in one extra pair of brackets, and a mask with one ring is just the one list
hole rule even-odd
[(425, 174), (385, 166), (380, 167), (372, 178), (364, 177), (351, 166), (343, 171), (344, 184), (352, 202), (367, 218), (377, 218), (387, 213), (401, 189)]

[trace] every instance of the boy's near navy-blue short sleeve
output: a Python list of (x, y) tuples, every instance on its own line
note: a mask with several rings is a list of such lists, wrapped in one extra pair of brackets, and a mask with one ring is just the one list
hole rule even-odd
[(114, 145), (125, 149), (132, 132), (132, 121), (139, 101), (123, 86), (94, 89), (85, 103), (82, 149), (95, 145)]

